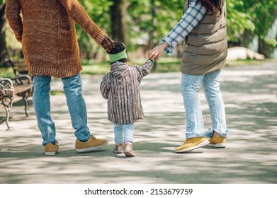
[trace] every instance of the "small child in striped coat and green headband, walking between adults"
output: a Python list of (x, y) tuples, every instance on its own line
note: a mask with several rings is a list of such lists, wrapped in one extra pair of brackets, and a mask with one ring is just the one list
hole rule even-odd
[[(149, 74), (152, 59), (142, 66), (128, 66), (125, 45), (115, 42), (108, 52), (111, 72), (103, 76), (100, 91), (108, 99), (108, 120), (114, 124), (114, 153), (135, 156), (132, 149), (134, 122), (144, 117), (140, 100), (140, 82)], [(124, 143), (124, 145), (123, 145)]]

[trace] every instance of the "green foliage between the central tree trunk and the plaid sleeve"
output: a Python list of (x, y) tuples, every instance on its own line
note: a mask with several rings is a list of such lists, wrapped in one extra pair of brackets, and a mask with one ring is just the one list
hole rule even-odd
[(128, 33), (134, 42), (159, 42), (179, 22), (183, 13), (183, 1), (129, 0), (129, 2)]

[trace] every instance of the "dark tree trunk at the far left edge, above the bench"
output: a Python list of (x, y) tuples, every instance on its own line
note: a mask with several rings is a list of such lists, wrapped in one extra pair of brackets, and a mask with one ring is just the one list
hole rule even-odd
[(8, 55), (6, 48), (6, 18), (5, 18), (6, 4), (0, 4), (0, 65), (6, 65), (5, 58)]

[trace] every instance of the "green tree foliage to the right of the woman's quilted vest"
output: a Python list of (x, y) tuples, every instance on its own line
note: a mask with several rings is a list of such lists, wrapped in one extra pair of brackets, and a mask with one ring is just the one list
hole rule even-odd
[(227, 16), (230, 40), (237, 40), (246, 30), (264, 39), (277, 18), (277, 0), (228, 0)]

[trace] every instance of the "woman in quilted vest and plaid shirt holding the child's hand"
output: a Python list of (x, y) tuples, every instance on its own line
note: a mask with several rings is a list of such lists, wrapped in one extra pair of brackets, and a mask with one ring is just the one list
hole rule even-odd
[[(230, 130), (225, 120), (225, 107), (220, 92), (220, 71), (227, 57), (225, 0), (189, 0), (185, 2), (181, 21), (149, 51), (149, 59), (159, 60), (164, 52), (182, 40), (181, 93), (186, 110), (186, 141), (175, 148), (178, 153), (191, 151), (205, 145), (225, 147)], [(204, 129), (198, 96), (202, 84), (210, 107), (213, 126)], [(207, 137), (211, 138), (208, 140)]]

